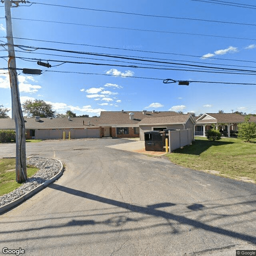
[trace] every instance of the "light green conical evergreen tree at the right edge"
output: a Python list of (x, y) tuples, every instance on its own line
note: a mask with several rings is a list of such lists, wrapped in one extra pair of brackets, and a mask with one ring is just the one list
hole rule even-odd
[(251, 139), (256, 138), (256, 123), (249, 122), (250, 116), (244, 118), (244, 122), (238, 124), (238, 138), (250, 142)]

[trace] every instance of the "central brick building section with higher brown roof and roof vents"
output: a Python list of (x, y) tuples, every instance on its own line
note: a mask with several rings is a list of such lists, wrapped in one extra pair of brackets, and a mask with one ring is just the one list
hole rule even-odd
[(102, 137), (136, 138), (140, 136), (138, 123), (145, 117), (177, 115), (174, 111), (102, 111), (100, 123)]

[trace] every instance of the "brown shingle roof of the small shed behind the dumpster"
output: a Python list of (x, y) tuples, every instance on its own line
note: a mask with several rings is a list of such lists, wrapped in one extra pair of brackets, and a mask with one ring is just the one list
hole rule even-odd
[(184, 124), (187, 122), (191, 114), (184, 114), (175, 116), (159, 116), (159, 117), (148, 117), (142, 119), (138, 124), (146, 125), (146, 124)]

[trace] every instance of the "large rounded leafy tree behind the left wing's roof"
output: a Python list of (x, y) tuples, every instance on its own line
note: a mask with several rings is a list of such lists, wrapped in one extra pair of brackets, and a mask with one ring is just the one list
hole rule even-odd
[(28, 117), (54, 117), (56, 114), (56, 111), (52, 110), (52, 105), (44, 100), (26, 100), (22, 108)]

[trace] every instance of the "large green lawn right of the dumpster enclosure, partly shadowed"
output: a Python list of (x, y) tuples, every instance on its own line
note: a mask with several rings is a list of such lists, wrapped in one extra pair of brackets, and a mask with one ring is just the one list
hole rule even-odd
[(166, 156), (180, 166), (256, 183), (256, 141), (248, 143), (237, 138), (222, 138), (210, 142), (196, 136), (192, 145)]

